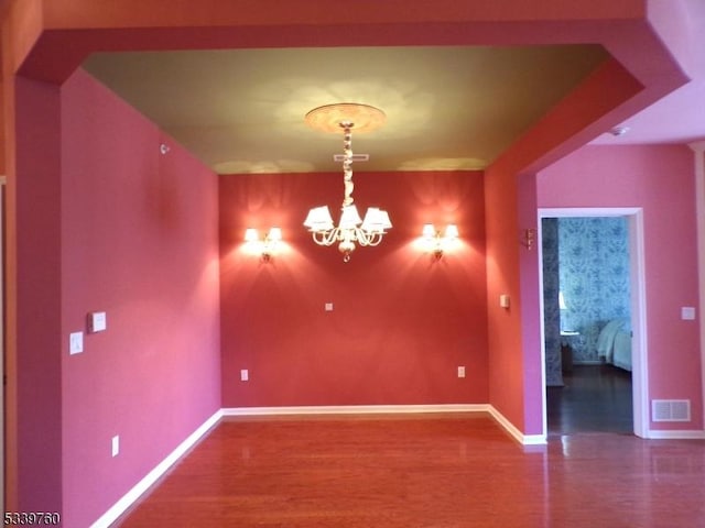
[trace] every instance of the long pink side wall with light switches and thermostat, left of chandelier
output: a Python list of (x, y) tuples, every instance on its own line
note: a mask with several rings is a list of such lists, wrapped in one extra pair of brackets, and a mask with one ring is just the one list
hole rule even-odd
[[(61, 95), (53, 354), (63, 385), (62, 517), (82, 527), (220, 408), (217, 180), (84, 72)], [(107, 312), (108, 330), (86, 334), (85, 352), (68, 355), (68, 333), (85, 330), (94, 310)]]

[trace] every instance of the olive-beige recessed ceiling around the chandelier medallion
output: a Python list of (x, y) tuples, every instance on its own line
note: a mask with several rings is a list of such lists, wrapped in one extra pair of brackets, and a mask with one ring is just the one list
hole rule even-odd
[(84, 67), (219, 174), (335, 170), (341, 134), (304, 116), (364, 102), (355, 170), (482, 168), (587, 76), (600, 46), (101, 53)]

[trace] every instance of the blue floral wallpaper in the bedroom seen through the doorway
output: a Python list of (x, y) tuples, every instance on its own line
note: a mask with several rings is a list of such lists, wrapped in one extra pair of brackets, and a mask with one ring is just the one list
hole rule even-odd
[[(596, 363), (597, 337), (605, 323), (629, 320), (627, 219), (543, 219), (542, 244), (546, 384), (562, 385), (560, 330), (579, 332), (563, 338), (570, 340), (574, 363)], [(565, 309), (560, 309), (558, 292)]]

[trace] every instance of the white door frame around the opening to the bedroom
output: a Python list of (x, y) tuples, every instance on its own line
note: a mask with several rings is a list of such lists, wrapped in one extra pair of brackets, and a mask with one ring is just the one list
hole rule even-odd
[[(631, 289), (631, 380), (633, 433), (649, 438), (649, 361), (647, 340), (647, 296), (644, 273), (643, 209), (641, 207), (595, 207), (595, 208), (539, 208), (539, 262), (543, 263), (543, 233), (541, 220), (544, 218), (593, 218), (626, 217), (629, 231), (629, 279)], [(539, 282), (543, 292), (543, 266), (539, 266)], [(545, 333), (543, 328), (543, 296), (541, 305), (541, 375), (543, 382), (543, 432), (547, 436), (546, 417), (546, 372)]]

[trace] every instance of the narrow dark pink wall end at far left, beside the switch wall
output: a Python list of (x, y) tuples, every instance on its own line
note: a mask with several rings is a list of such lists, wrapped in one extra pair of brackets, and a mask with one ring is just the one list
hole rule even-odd
[[(61, 328), (61, 204), (56, 199), (61, 191), (59, 91), (26, 79), (18, 79), (15, 91), (17, 174), (24, 178), (8, 189), (8, 209), (14, 208), (17, 229), (22, 232), (14, 255), (8, 255), (17, 270), (17, 280), (9, 288), (10, 294), (17, 288), (17, 319), (8, 318), (8, 333), (14, 330), (20, 352), (17, 365), (7, 362), (12, 380), (8, 389), (17, 394), (17, 414), (8, 417), (7, 426), (8, 436), (17, 432), (17, 437), (8, 458), (18, 475), (15, 510), (61, 512), (59, 348), (65, 341)], [(17, 462), (12, 460), (15, 440)]]

